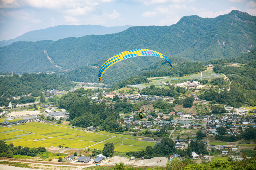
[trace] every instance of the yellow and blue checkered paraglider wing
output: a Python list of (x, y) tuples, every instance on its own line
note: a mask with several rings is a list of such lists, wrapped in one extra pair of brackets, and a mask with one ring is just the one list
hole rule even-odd
[(111, 57), (110, 59), (108, 59), (100, 68), (99, 71), (99, 80), (101, 81), (101, 76), (102, 74), (113, 64), (125, 60), (127, 58), (131, 58), (131, 57), (136, 57), (136, 56), (155, 56), (155, 57), (160, 57), (165, 59), (170, 66), (173, 69), (173, 64), (171, 63), (171, 61), (162, 53), (159, 53), (157, 51), (154, 50), (150, 50), (150, 49), (134, 49), (134, 50), (129, 50), (129, 51), (124, 51), (122, 53), (119, 53), (113, 57)]

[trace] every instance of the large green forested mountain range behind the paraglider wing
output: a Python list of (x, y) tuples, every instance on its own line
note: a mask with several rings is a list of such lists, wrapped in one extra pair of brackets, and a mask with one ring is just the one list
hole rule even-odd
[[(84, 76), (87, 80), (92, 77), (90, 81), (97, 81), (99, 67), (108, 58), (130, 49), (153, 49), (174, 61), (181, 58), (190, 61), (234, 58), (255, 48), (255, 22), (255, 16), (233, 10), (216, 18), (185, 16), (171, 26), (130, 27), (115, 34), (69, 37), (58, 41), (19, 41), (0, 48), (0, 71), (32, 73), (70, 69), (71, 77)], [(140, 68), (160, 60), (134, 57), (115, 64), (104, 74), (114, 75), (122, 81), (140, 74)], [(103, 83), (108, 80), (104, 82), (103, 79)]]

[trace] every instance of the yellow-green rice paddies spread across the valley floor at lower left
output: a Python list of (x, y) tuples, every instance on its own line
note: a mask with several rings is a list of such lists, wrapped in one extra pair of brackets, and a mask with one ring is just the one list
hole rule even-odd
[(106, 142), (112, 142), (115, 145), (115, 151), (129, 152), (145, 150), (146, 146), (155, 146), (155, 142), (132, 140), (132, 138), (136, 139), (137, 137), (118, 135), (106, 131), (99, 133), (84, 132), (39, 122), (14, 125), (13, 127), (0, 126), (0, 140), (4, 140), (8, 144), (13, 143), (14, 146), (29, 148), (61, 145), (68, 148), (103, 149)]

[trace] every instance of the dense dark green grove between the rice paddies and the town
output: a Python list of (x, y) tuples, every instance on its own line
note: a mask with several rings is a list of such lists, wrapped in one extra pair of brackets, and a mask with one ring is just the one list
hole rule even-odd
[(84, 94), (83, 88), (63, 95), (59, 100), (59, 106), (70, 112), (70, 123), (73, 126), (89, 127), (100, 126), (101, 130), (108, 132), (124, 132), (124, 128), (116, 120), (120, 119), (119, 112), (105, 103), (94, 103)]

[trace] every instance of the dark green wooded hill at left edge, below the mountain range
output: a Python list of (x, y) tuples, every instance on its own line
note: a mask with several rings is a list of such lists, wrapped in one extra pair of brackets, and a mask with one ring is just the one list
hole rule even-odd
[[(28, 74), (21, 76), (13, 74), (13, 76), (0, 77), (0, 106), (8, 106), (9, 101), (14, 101), (12, 96), (21, 96), (32, 93), (33, 96), (41, 96), (45, 90), (70, 90), (72, 83), (66, 78), (57, 74)], [(9, 99), (9, 100), (8, 100)], [(27, 99), (26, 99), (27, 100)], [(33, 100), (33, 99), (32, 99)], [(29, 100), (30, 101), (30, 100)], [(20, 102), (24, 103), (23, 99)]]

